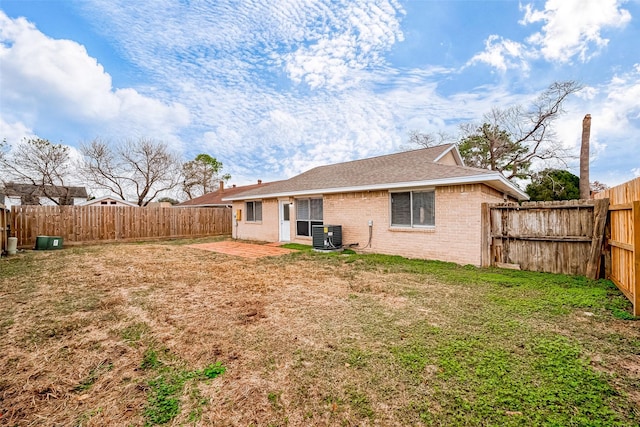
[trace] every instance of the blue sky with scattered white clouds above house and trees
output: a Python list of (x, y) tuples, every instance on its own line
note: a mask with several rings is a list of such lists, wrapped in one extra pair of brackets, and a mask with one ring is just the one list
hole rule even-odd
[[(640, 0), (3, 0), (0, 137), (154, 138), (231, 183), (459, 133), (554, 81), (591, 179), (640, 176)], [(577, 174), (577, 161), (570, 170)]]

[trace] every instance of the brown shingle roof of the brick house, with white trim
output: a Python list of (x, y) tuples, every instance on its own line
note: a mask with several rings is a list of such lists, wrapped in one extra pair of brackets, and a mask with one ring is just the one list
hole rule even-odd
[[(458, 165), (438, 163), (449, 152), (454, 156)], [(529, 198), (526, 193), (499, 172), (463, 166), (456, 145), (445, 144), (319, 166), (286, 181), (274, 182), (233, 196), (225, 196), (223, 200), (391, 190), (480, 182), (519, 200)]]

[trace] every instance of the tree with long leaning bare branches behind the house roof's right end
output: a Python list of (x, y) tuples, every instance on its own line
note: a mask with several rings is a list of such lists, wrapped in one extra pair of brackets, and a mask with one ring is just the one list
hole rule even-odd
[(556, 82), (525, 109), (521, 105), (494, 108), (484, 123), (462, 126), (460, 154), (467, 166), (501, 172), (507, 179), (530, 178), (536, 160), (555, 160), (566, 166), (574, 157), (553, 131), (567, 97), (581, 89), (574, 81)]

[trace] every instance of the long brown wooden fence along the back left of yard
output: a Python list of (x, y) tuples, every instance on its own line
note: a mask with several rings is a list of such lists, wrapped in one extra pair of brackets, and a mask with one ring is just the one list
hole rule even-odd
[(231, 234), (231, 209), (224, 207), (13, 206), (11, 217), (21, 248), (41, 235), (67, 244)]

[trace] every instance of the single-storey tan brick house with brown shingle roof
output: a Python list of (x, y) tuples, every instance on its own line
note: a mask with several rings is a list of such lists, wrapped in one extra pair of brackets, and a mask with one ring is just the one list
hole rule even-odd
[(223, 200), (236, 238), (311, 244), (313, 225), (331, 224), (362, 252), (480, 265), (481, 204), (526, 199), (445, 144), (320, 166)]

